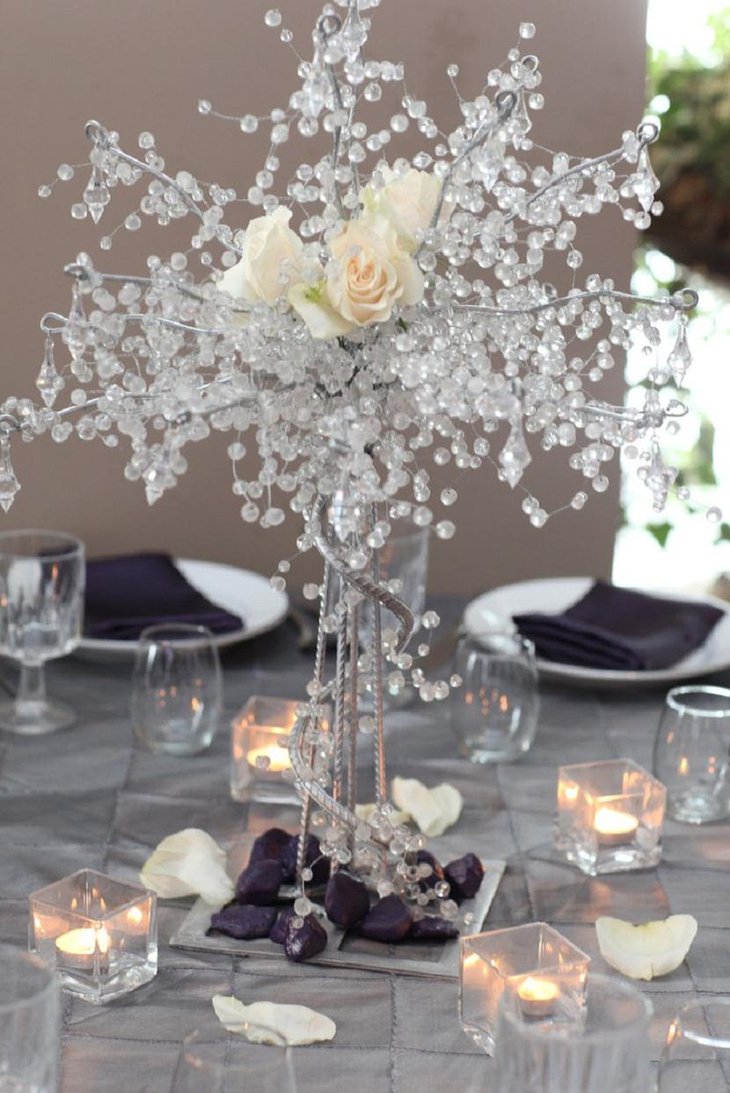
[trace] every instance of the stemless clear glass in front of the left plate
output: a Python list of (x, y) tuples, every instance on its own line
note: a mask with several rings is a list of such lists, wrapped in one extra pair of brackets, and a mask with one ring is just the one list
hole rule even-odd
[(195, 755), (209, 748), (223, 698), (221, 662), (207, 626), (161, 624), (142, 631), (131, 716), (150, 751)]

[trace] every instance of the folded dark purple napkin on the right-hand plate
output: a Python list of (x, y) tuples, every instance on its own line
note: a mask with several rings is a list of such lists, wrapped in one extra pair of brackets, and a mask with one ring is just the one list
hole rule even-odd
[(723, 613), (709, 603), (664, 600), (597, 580), (562, 614), (521, 614), (514, 621), (543, 660), (651, 671), (700, 646)]

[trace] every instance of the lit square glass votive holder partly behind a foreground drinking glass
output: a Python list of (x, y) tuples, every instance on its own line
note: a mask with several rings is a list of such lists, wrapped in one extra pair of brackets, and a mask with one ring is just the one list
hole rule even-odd
[(526, 1021), (582, 1020), (590, 957), (546, 922), (461, 938), (461, 1027), (487, 1055), (494, 1050), (499, 1000), (514, 995)]

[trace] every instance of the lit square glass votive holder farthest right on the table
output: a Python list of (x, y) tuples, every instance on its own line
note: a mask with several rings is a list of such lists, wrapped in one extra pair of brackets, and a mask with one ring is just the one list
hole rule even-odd
[(649, 869), (661, 858), (667, 790), (629, 759), (562, 766), (555, 847), (585, 873)]

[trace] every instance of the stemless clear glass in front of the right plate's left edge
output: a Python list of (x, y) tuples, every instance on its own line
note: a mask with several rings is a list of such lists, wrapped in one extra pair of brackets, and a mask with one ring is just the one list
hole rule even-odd
[(540, 713), (532, 642), (519, 634), (464, 637), (451, 692), (451, 728), (459, 753), (472, 763), (519, 759), (534, 739)]

